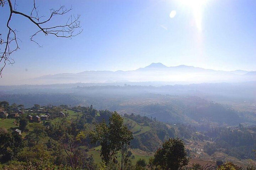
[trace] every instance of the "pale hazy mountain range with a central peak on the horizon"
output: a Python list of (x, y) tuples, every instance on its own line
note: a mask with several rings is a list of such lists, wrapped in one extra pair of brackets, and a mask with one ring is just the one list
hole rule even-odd
[(256, 71), (217, 71), (200, 67), (179, 65), (165, 66), (152, 63), (132, 71), (84, 71), (80, 73), (62, 73), (22, 80), (22, 84), (56, 83), (115, 83), (115, 82), (245, 82), (255, 81)]

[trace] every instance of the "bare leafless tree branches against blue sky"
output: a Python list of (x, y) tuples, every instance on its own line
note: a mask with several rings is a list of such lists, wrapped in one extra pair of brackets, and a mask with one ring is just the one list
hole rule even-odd
[[(0, 75), (2, 77), (3, 69), (6, 64), (13, 64), (14, 60), (11, 58), (11, 54), (15, 51), (17, 51), (19, 48), (17, 37), (17, 30), (15, 28), (12, 28), (10, 25), (10, 22), (12, 20), (13, 15), (21, 15), (24, 18), (27, 18), (31, 23), (36, 25), (38, 28), (38, 31), (36, 31), (31, 37), (30, 40), (36, 43), (38, 46), (39, 44), (37, 41), (34, 40), (34, 37), (38, 35), (38, 33), (44, 33), (44, 35), (53, 35), (55, 37), (63, 37), (63, 38), (71, 38), (74, 36), (79, 35), (79, 33), (82, 32), (82, 30), (78, 30), (75, 32), (77, 28), (80, 28), (80, 21), (79, 17), (80, 15), (74, 16), (71, 15), (67, 22), (64, 24), (59, 25), (51, 25), (49, 27), (49, 21), (51, 21), (54, 16), (57, 15), (64, 15), (68, 13), (71, 8), (66, 8), (65, 6), (60, 6), (58, 10), (54, 10), (53, 8), (50, 10), (50, 15), (46, 18), (45, 16), (41, 16), (38, 13), (38, 7), (36, 6), (36, 1), (33, 0), (33, 8), (30, 12), (30, 14), (25, 14), (22, 12), (17, 11), (16, 9), (16, 0), (0, 0), (0, 5), (2, 7), (9, 7), (10, 8), (10, 14), (9, 18), (6, 23), (7, 32), (3, 35), (0, 32)], [(2, 48), (1, 48), (2, 46)]]

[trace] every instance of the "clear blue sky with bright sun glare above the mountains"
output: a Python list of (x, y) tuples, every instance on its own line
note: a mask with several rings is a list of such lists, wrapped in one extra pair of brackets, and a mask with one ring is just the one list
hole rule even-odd
[[(33, 1), (17, 1), (30, 14)], [(30, 4), (30, 6), (29, 6)], [(50, 8), (72, 7), (51, 25), (80, 14), (82, 31), (72, 39), (37, 35), (28, 19), (13, 15), (20, 49), (11, 55), (0, 85), (47, 74), (97, 70), (135, 70), (151, 63), (189, 65), (214, 70), (256, 70), (256, 1), (254, 0), (95, 0), (38, 1), (39, 15)], [(1, 9), (5, 37), (8, 6)], [(2, 50), (0, 46), (0, 50)]]

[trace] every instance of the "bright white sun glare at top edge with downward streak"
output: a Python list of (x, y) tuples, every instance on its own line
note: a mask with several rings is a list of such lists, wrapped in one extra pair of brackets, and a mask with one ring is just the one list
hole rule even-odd
[(196, 27), (199, 31), (202, 31), (202, 13), (206, 0), (179, 0), (182, 5), (186, 5), (191, 8), (196, 22)]

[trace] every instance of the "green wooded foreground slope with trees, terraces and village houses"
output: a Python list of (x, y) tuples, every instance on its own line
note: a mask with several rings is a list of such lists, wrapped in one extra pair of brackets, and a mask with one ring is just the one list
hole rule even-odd
[[(1, 101), (0, 107), (2, 169), (221, 169), (229, 164), (253, 169), (255, 164), (256, 129), (242, 124), (171, 124), (92, 105), (25, 108)], [(161, 156), (174, 146), (183, 151), (172, 151), (180, 159)], [(208, 162), (197, 162), (202, 159)]]

